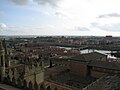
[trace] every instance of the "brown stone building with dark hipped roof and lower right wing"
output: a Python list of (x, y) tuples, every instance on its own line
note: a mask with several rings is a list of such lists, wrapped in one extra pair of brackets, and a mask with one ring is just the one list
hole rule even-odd
[(72, 57), (70, 71), (82, 76), (100, 78), (107, 73), (120, 73), (120, 64), (108, 62), (106, 55), (93, 52)]

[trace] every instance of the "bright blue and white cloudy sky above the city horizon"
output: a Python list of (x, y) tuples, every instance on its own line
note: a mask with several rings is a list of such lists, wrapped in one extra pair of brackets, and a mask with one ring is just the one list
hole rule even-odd
[(120, 0), (0, 0), (0, 35), (120, 36)]

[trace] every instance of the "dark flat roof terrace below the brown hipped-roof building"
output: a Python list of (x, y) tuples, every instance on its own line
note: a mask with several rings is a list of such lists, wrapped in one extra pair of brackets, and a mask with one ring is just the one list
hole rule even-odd
[(96, 78), (93, 77), (83, 77), (73, 73), (61, 73), (54, 77), (51, 77), (51, 80), (62, 83), (64, 85), (69, 85), (78, 89), (83, 89), (90, 83), (94, 82)]

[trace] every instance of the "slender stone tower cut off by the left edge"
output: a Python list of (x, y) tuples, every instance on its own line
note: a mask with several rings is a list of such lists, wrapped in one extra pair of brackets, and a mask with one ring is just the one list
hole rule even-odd
[(5, 77), (5, 51), (2, 42), (0, 42), (0, 80), (3, 81), (4, 77)]

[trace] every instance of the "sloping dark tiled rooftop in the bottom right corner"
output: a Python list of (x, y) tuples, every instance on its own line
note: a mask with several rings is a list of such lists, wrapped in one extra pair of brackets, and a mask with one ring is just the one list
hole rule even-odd
[(83, 90), (120, 90), (120, 75), (106, 75)]

